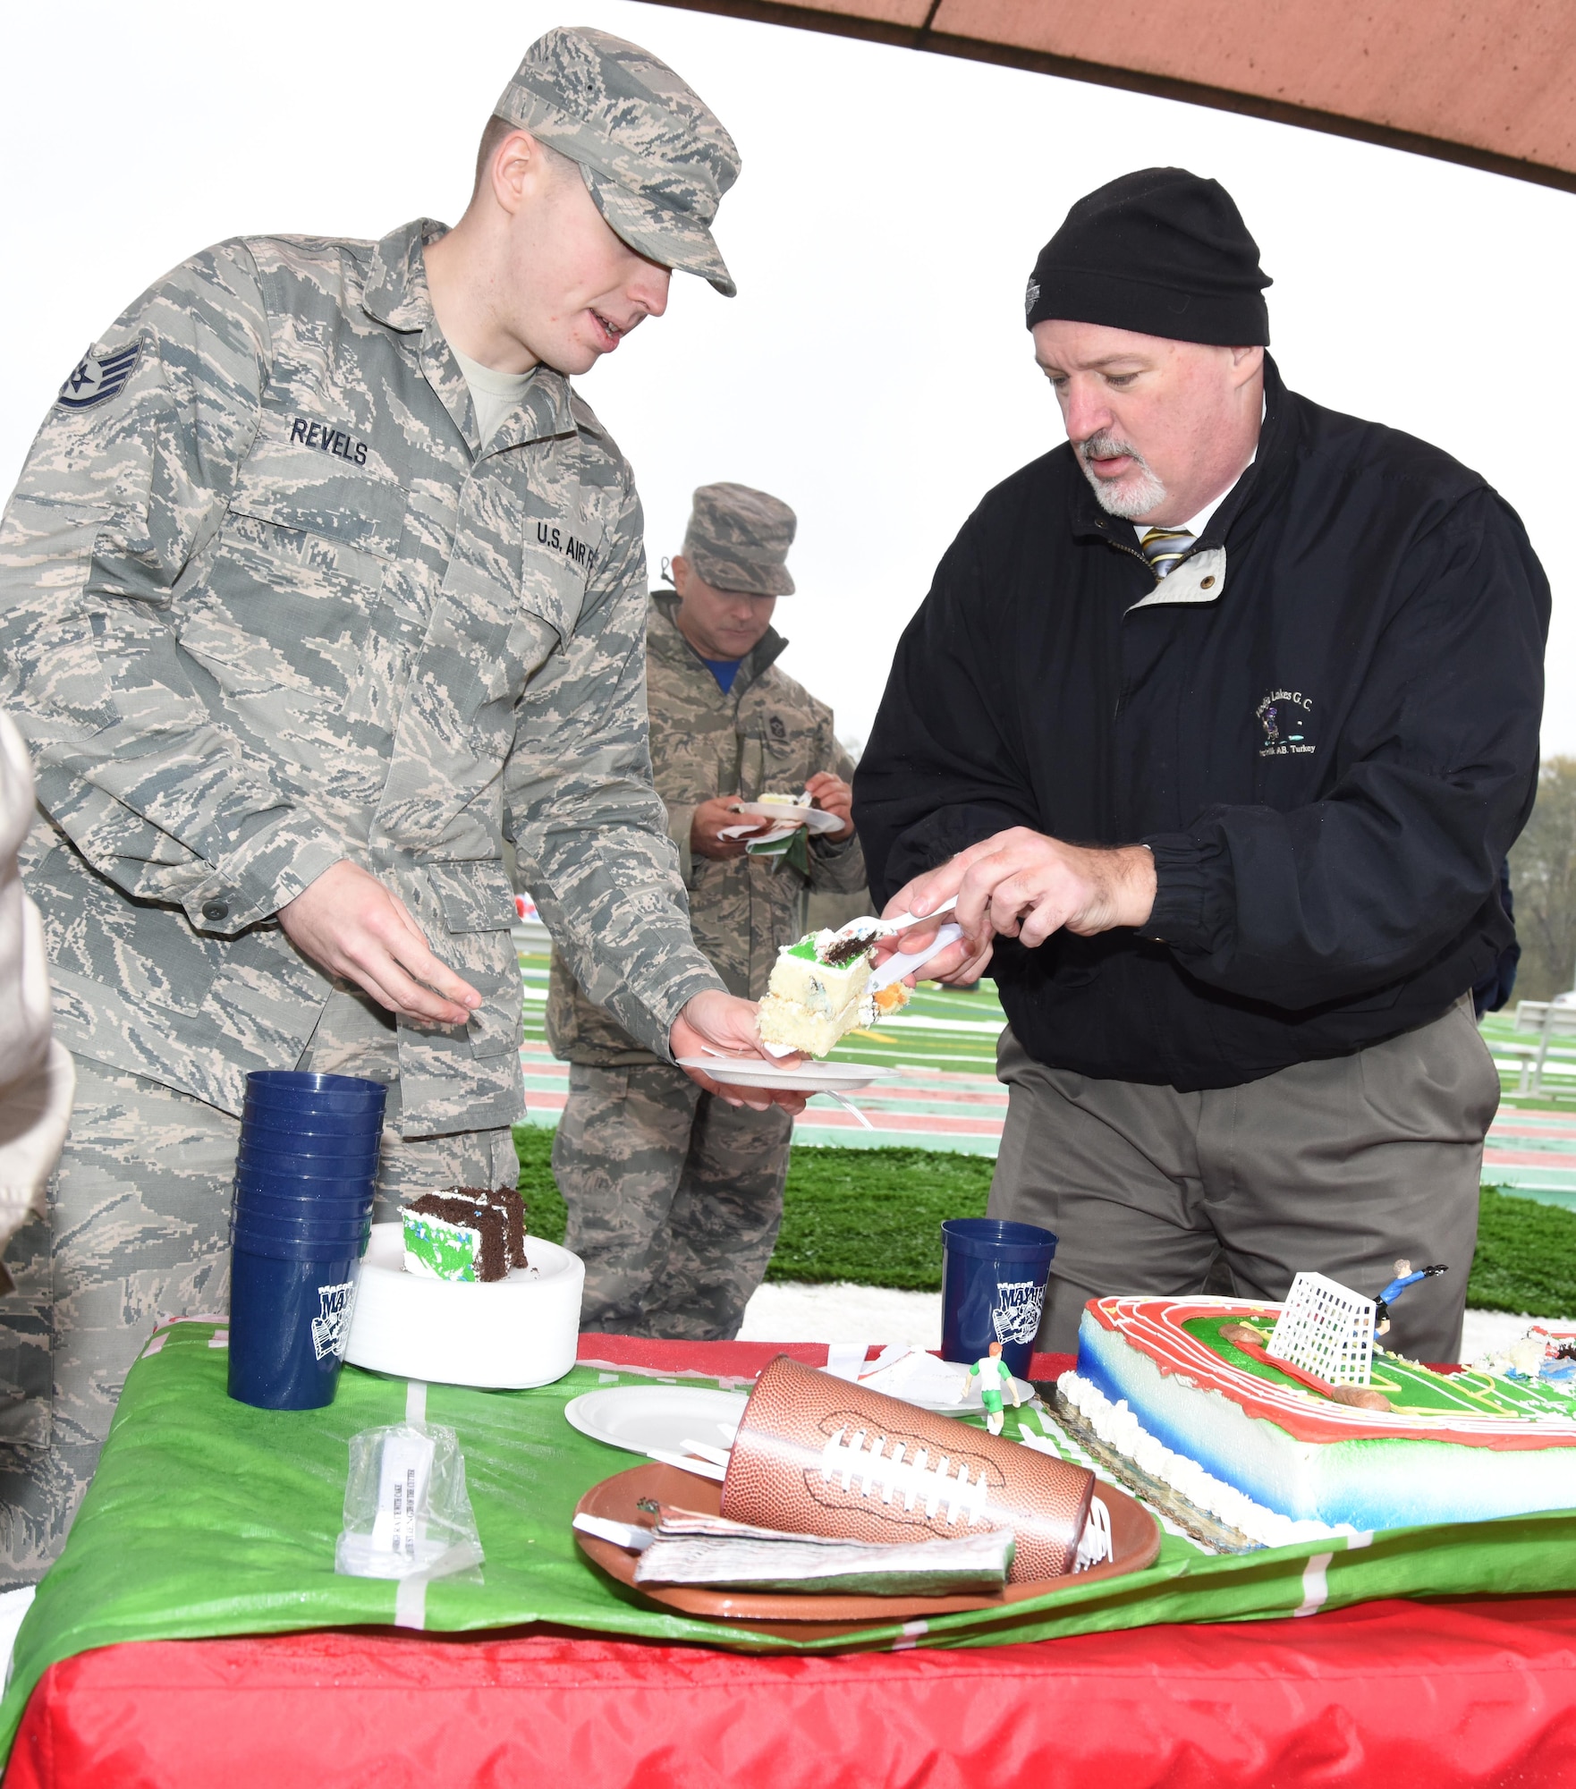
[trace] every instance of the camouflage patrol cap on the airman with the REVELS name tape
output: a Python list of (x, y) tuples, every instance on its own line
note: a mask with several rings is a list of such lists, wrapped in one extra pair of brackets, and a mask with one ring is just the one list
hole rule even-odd
[(739, 179), (739, 150), (699, 93), (649, 50), (558, 25), (526, 50), (494, 113), (578, 163), (597, 211), (631, 249), (733, 297), (708, 225)]

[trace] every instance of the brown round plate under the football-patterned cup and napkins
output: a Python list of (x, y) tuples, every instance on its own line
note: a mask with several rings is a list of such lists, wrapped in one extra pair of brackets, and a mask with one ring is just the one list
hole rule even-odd
[[(651, 1598), (685, 1615), (705, 1615), (710, 1621), (741, 1623), (760, 1632), (780, 1632), (787, 1639), (825, 1639), (852, 1633), (887, 1621), (914, 1621), (923, 1615), (952, 1615), (966, 1608), (1007, 1610), (1013, 1603), (1045, 1596), (1070, 1583), (1098, 1583), (1102, 1578), (1122, 1578), (1127, 1573), (1152, 1565), (1161, 1549), (1159, 1522), (1140, 1503), (1114, 1485), (1097, 1485), (1095, 1496), (1111, 1513), (1111, 1542), (1116, 1556), (1104, 1565), (1080, 1571), (1075, 1578), (1039, 1578), (1032, 1583), (1009, 1583), (991, 1596), (816, 1596), (782, 1590), (707, 1590), (698, 1585), (637, 1585), (635, 1555), (615, 1547), (610, 1540), (574, 1531), (581, 1553), (619, 1583), (640, 1596)], [(628, 1472), (605, 1478), (574, 1506), (576, 1515), (601, 1515), (614, 1522), (640, 1522), (640, 1499), (671, 1503), (701, 1515), (719, 1515), (723, 1487), (708, 1478), (696, 1478), (673, 1465), (637, 1465)]]

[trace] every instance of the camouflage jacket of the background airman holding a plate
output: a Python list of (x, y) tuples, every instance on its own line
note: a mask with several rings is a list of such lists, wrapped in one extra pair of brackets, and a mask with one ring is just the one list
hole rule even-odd
[[(696, 807), (717, 794), (753, 801), (767, 789), (800, 791), (818, 771), (853, 776), (832, 732), (832, 710), (776, 669), (787, 646), (776, 632), (739, 666), (724, 694), (707, 662), (678, 632), (678, 598), (658, 592), (646, 630), (651, 698), (651, 767), (667, 805), (667, 832), (678, 846), (689, 887), (696, 943), (732, 993), (758, 1000), (776, 952), (805, 928), (807, 889), (853, 893), (864, 887), (857, 839), (810, 843), (810, 880), (782, 861), (694, 857), (689, 827)], [(581, 993), (555, 954), (547, 993), (547, 1036), (571, 1063), (614, 1066), (649, 1063), (617, 1023)]]

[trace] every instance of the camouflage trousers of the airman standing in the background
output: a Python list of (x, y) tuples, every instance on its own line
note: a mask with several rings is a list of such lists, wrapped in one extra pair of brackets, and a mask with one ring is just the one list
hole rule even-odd
[(585, 1261), (583, 1329), (739, 1333), (782, 1224), (792, 1118), (703, 1093), (682, 1068), (569, 1068), (553, 1177)]

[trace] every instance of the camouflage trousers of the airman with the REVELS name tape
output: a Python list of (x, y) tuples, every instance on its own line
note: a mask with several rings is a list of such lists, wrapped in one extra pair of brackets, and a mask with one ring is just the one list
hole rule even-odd
[[(370, 1007), (370, 1004), (369, 1004)], [(397, 1077), (394, 1029), (351, 995), (329, 1002), (297, 1066)], [(229, 1211), (240, 1120), (77, 1056), (77, 1098), (47, 1209), (5, 1251), (0, 1297), (0, 1589), (61, 1551), (120, 1388), (159, 1317), (229, 1310)], [(377, 1222), (433, 1186), (513, 1186), (513, 1134), (402, 1138), (388, 1090)]]

